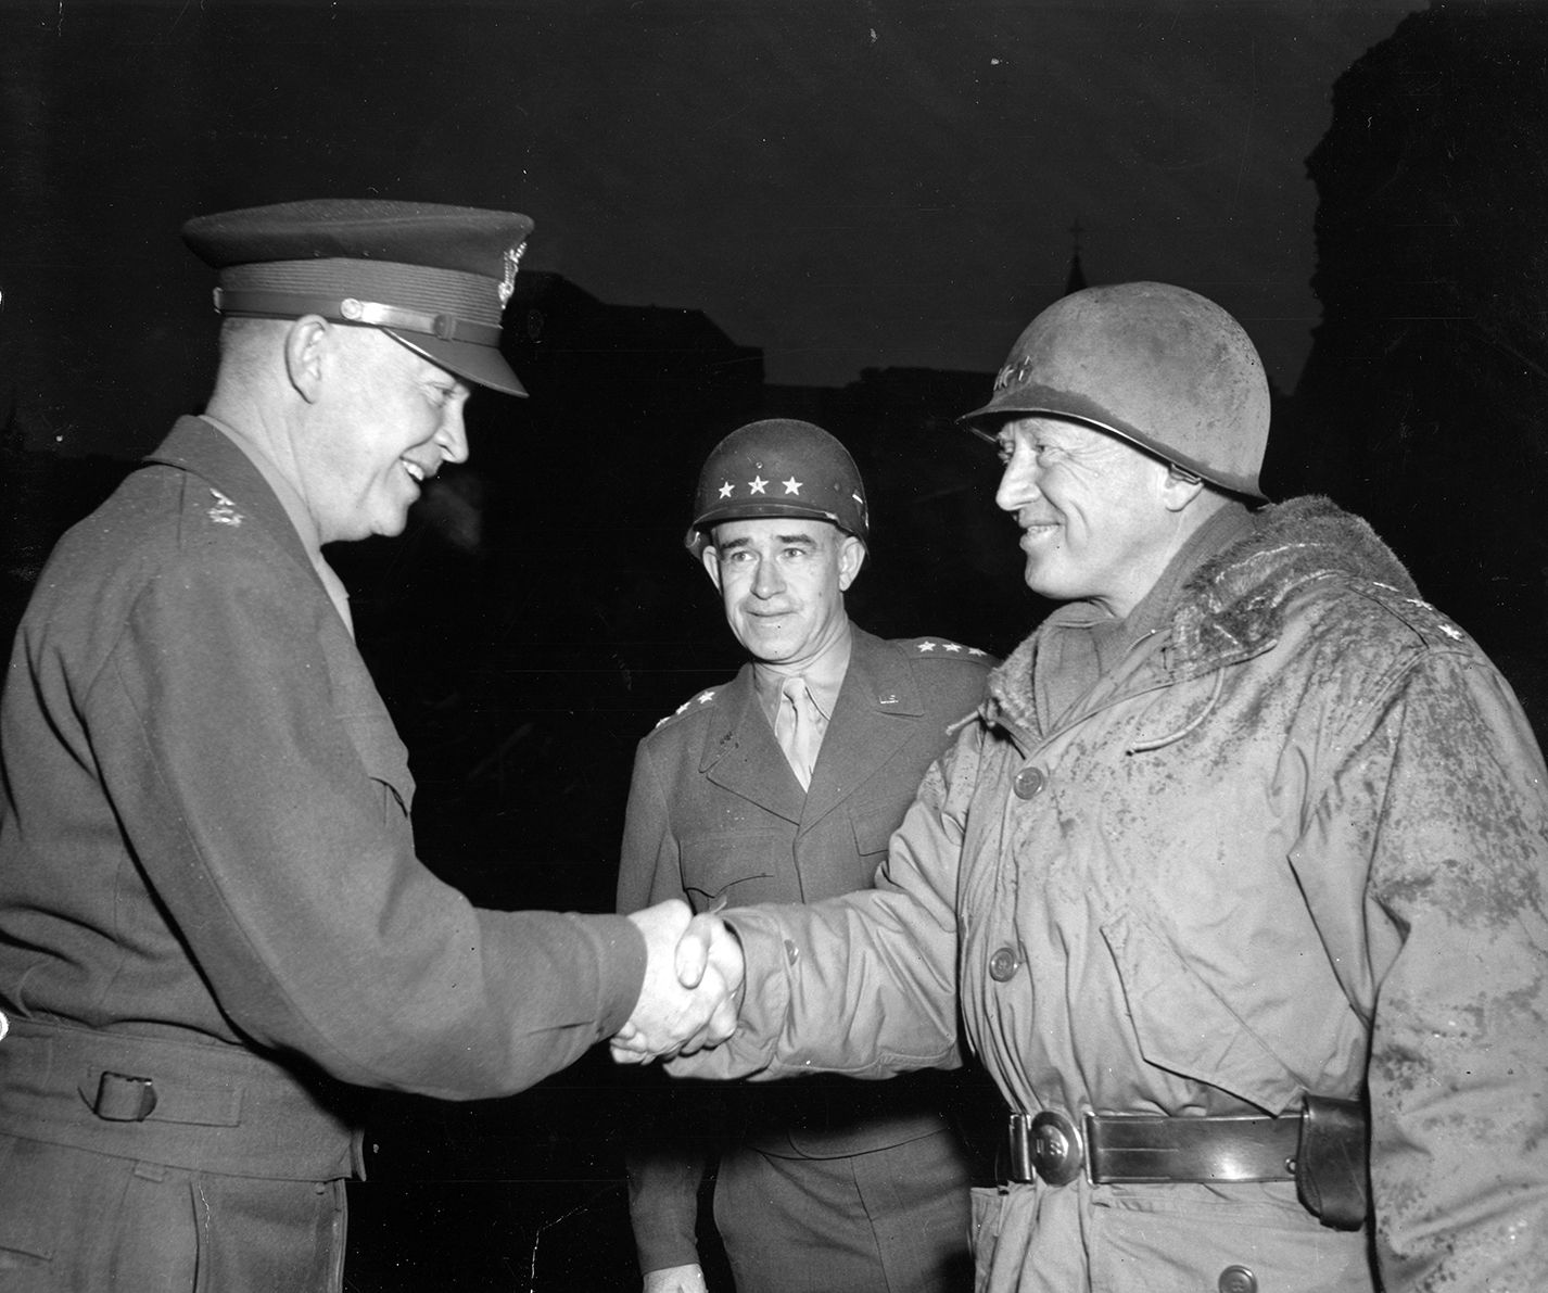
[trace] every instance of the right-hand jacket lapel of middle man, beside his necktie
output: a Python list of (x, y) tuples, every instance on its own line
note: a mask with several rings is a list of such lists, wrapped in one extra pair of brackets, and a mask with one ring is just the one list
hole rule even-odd
[[(802, 830), (810, 830), (870, 780), (913, 736), (924, 715), (924, 700), (907, 661), (881, 638), (861, 629), (851, 632), (850, 667), (813, 768)], [(774, 749), (779, 753), (777, 743)]]

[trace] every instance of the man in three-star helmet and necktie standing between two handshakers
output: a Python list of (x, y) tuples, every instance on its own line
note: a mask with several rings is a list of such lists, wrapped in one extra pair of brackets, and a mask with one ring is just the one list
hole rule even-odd
[[(867, 540), (865, 486), (820, 427), (759, 421), (711, 452), (687, 548), (749, 660), (639, 743), (619, 911), (814, 901), (872, 883), (992, 661), (851, 624), (844, 595)], [(717, 1151), (737, 1293), (969, 1287), (971, 1177), (933, 1076), (680, 1093), (670, 1135), (628, 1155), (646, 1290), (704, 1287), (697, 1195)], [(717, 1144), (726, 1104), (738, 1134)]]

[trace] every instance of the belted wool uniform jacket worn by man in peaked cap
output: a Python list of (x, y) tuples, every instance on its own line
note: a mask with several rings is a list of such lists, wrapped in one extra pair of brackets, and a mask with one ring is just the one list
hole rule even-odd
[[(415, 859), (365, 664), (259, 469), (201, 420), (43, 568), (0, 754), (0, 1132), (337, 1178), (344, 1084), (515, 1092), (633, 1010), (624, 918), (478, 911)], [(91, 1116), (104, 1070), (153, 1078), (149, 1113), (115, 1086)]]

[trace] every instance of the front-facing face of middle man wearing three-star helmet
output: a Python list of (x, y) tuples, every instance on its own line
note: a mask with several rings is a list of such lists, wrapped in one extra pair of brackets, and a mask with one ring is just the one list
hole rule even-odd
[(703, 553), (737, 641), (766, 664), (800, 669), (844, 632), (844, 593), (865, 547), (827, 520), (724, 520)]

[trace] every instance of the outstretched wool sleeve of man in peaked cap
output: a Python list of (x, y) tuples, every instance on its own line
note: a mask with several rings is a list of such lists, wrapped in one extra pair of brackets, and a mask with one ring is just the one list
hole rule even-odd
[(480, 911), (423, 867), (390, 754), (367, 762), (401, 765), (381, 700), (364, 667), (341, 691), (293, 593), (257, 559), (141, 592), (82, 700), (124, 835), (257, 1044), (443, 1098), (531, 1086), (628, 1017), (642, 940)]

